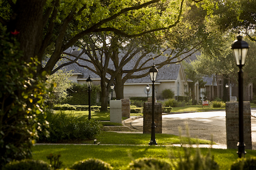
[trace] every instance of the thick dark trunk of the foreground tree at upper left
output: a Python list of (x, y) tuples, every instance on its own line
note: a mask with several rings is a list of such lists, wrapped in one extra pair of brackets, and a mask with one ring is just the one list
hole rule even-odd
[(46, 0), (17, 0), (13, 15), (7, 24), (8, 32), (19, 32), (17, 40), (20, 42), (24, 56), (22, 60), (30, 61), (37, 55), (42, 41), (43, 7)]

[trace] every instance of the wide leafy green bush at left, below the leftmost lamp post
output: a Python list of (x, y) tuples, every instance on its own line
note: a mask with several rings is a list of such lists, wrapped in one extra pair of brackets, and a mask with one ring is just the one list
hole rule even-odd
[(88, 120), (87, 117), (76, 117), (61, 111), (55, 114), (52, 110), (46, 111), (46, 120), (50, 126), (47, 128), (50, 137), (47, 138), (45, 134), (39, 133), (40, 141), (57, 142), (59, 140), (70, 139), (92, 139), (101, 132), (102, 126), (100, 122), (94, 119)]

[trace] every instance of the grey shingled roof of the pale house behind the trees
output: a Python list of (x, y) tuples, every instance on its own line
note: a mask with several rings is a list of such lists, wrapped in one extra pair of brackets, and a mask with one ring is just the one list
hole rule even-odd
[[(73, 49), (74, 49), (74, 47), (73, 48), (69, 48), (65, 52), (70, 53)], [(170, 52), (170, 51), (166, 51), (163, 55), (159, 56), (157, 59), (152, 60), (150, 62), (147, 62), (145, 64), (145, 67), (148, 67), (148, 66), (151, 66), (153, 64), (158, 64), (158, 63), (161, 63), (161, 62), (165, 61), (166, 60), (165, 54), (167, 54), (168, 52)], [(200, 53), (198, 53), (198, 52), (192, 54), (191, 56), (189, 56), (189, 58), (191, 58), (191, 59), (186, 59), (186, 61), (195, 60), (196, 56), (199, 55), (199, 54)], [(119, 60), (121, 60), (124, 55), (125, 55), (125, 52), (120, 51), (120, 53), (119, 53)], [(131, 59), (123, 67), (123, 70), (130, 70), (131, 68), (133, 68), (135, 63), (137, 62), (138, 58), (140, 57), (140, 55), (141, 55), (141, 53), (137, 53), (133, 57), (133, 59)], [(145, 60), (147, 60), (148, 58), (153, 58), (155, 55), (156, 54), (154, 54), (154, 53), (149, 53), (140, 62), (143, 63), (143, 62), (145, 62)], [(183, 55), (180, 56), (180, 58), (185, 58), (187, 55), (188, 54), (183, 54)], [(72, 58), (72, 56), (70, 56), (70, 57)], [(82, 58), (89, 59), (89, 56), (87, 56), (86, 54), (83, 54)], [(174, 59), (174, 61), (176, 61), (176, 59)], [(63, 60), (62, 62), (65, 62), (65, 60)], [(80, 63), (81, 65), (87, 65), (90, 68), (94, 68), (95, 69), (94, 65), (92, 63), (90, 63), (90, 62), (86, 62), (84, 60), (78, 59), (78, 63)], [(109, 62), (109, 68), (114, 70), (114, 65), (113, 65), (113, 62), (111, 60)], [(180, 68), (181, 68), (181, 63), (172, 63), (172, 64), (164, 65), (162, 68), (158, 69), (157, 81), (172, 81), (172, 80), (176, 80), (178, 78), (178, 74), (179, 74)], [(100, 79), (99, 75), (93, 73), (92, 71), (90, 71), (90, 70), (88, 70), (88, 69), (86, 69), (84, 67), (78, 66), (76, 63), (66, 65), (64, 67), (64, 69), (66, 69), (66, 71), (72, 71), (72, 73), (74, 73), (74, 74), (81, 74), (81, 75), (78, 75), (78, 79), (87, 79), (89, 77), (89, 75), (90, 75), (90, 77), (92, 79)], [(146, 73), (148, 71), (149, 71), (149, 69), (143, 70), (143, 71), (138, 71), (138, 72), (135, 72), (133, 75), (139, 75), (139, 74), (142, 74), (142, 73)], [(106, 76), (107, 76), (107, 78), (111, 78), (111, 75), (109, 75), (109, 74), (107, 74)], [(126, 83), (150, 83), (150, 82), (151, 82), (151, 79), (150, 79), (149, 75), (146, 76), (146, 77), (140, 78), (140, 79), (128, 79), (126, 81)]]

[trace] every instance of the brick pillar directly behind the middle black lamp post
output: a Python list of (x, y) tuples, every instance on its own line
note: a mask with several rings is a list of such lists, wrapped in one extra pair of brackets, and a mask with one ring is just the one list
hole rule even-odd
[[(145, 102), (143, 109), (143, 134), (151, 133), (152, 102)], [(162, 103), (155, 103), (155, 133), (162, 134)]]

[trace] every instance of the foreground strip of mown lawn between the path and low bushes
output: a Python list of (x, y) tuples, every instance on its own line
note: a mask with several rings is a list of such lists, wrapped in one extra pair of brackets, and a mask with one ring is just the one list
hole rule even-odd
[[(118, 145), (37, 145), (33, 149), (33, 159), (44, 160), (50, 153), (60, 154), (63, 168), (69, 167), (78, 160), (98, 158), (111, 164), (114, 169), (125, 169), (133, 159), (155, 157), (166, 160), (177, 159), (184, 155), (182, 147), (166, 146), (118, 146)], [(209, 149), (201, 148), (203, 155)], [(246, 150), (246, 157), (256, 156), (256, 150)], [(231, 164), (238, 158), (236, 149), (211, 149), (211, 154), (220, 166), (219, 169), (230, 169)], [(171, 158), (170, 158), (171, 157)]]

